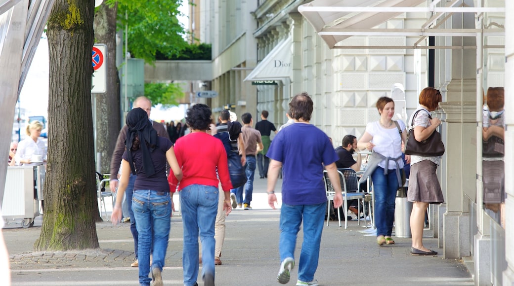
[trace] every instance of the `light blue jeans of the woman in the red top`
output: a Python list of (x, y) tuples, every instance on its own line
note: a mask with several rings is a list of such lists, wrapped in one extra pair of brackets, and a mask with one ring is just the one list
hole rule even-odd
[(184, 285), (195, 285), (198, 277), (198, 233), (201, 240), (201, 276), (214, 277), (214, 222), (218, 212), (218, 187), (190, 185), (180, 190), (184, 228), (182, 268)]

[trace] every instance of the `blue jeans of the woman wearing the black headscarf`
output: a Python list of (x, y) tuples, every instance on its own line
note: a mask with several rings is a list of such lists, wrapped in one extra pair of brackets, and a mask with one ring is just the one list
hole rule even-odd
[[(150, 249), (153, 244), (152, 269), (164, 267), (170, 235), (171, 199), (168, 192), (136, 190), (132, 210), (139, 233), (139, 284), (150, 285)], [(153, 237), (153, 239), (152, 239)]]

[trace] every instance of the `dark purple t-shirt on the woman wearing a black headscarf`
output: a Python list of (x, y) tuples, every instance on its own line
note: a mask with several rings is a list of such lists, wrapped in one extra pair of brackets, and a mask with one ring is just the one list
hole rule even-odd
[[(168, 178), (166, 177), (166, 152), (171, 148), (172, 144), (168, 138), (159, 138), (159, 148), (150, 153), (152, 162), (154, 163), (155, 173), (152, 176), (146, 176), (143, 169), (143, 156), (141, 149), (132, 152), (134, 159), (134, 167), (137, 170), (137, 178), (134, 183), (134, 190), (152, 190), (158, 192), (169, 192)], [(127, 152), (123, 152), (124, 160), (128, 160)]]

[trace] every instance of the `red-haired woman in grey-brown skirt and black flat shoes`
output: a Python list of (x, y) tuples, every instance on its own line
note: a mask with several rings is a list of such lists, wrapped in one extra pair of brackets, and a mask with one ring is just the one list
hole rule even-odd
[[(419, 106), (412, 114), (410, 122), (414, 121), (414, 137), (423, 141), (430, 137), (441, 124), (439, 118), (432, 118), (434, 111), (442, 101), (441, 93), (432, 87), (427, 87), (419, 94)], [(407, 199), (413, 201), (411, 212), (412, 255), (436, 255), (437, 252), (423, 246), (423, 229), (425, 214), (429, 203), (444, 202), (443, 192), (435, 171), (440, 164), (440, 156), (411, 155), (411, 174)]]

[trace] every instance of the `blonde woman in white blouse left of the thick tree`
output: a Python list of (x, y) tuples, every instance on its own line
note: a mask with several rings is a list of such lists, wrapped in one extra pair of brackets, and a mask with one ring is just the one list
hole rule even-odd
[(43, 125), (35, 120), (27, 126), (27, 135), (29, 137), (23, 139), (18, 144), (18, 150), (14, 156), (16, 165), (38, 166), (46, 162), (45, 142), (39, 136)]

